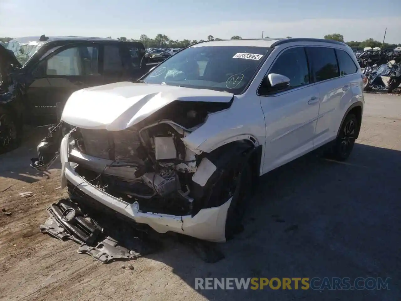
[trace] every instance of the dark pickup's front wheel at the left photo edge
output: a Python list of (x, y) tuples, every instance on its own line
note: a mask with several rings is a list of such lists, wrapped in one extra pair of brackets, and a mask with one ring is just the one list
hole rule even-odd
[(22, 127), (14, 115), (0, 108), (0, 154), (17, 148), (21, 143)]

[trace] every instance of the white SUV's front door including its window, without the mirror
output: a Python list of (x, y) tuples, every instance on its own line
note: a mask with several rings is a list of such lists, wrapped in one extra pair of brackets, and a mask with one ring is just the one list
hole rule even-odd
[(290, 87), (272, 92), (259, 88), (266, 123), (263, 173), (304, 155), (314, 148), (319, 92), (311, 84), (304, 47), (284, 50), (267, 72), (285, 75)]

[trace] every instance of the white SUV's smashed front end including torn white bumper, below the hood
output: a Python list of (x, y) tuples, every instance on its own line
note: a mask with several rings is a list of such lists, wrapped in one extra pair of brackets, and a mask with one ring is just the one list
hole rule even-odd
[(31, 166), (47, 169), (52, 155), (60, 155), (61, 185), (77, 205), (106, 207), (159, 233), (223, 242), (231, 199), (205, 205), (206, 183), (217, 167), (185, 138), (231, 102), (176, 100), (123, 130), (76, 126), (63, 133), (65, 124), (59, 124), (39, 144)]

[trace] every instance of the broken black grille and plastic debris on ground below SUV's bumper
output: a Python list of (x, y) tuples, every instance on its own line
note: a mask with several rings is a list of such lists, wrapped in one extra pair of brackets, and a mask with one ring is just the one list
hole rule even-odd
[[(151, 228), (97, 211), (98, 208), (81, 208), (81, 205), (71, 199), (61, 199), (50, 205), (47, 209), (50, 217), (40, 225), (41, 232), (59, 240), (77, 242), (80, 244), (78, 253), (88, 254), (102, 263), (117, 259), (134, 260), (161, 248), (161, 234)], [(181, 243), (190, 246), (205, 262), (215, 263), (224, 258), (216, 243), (189, 236), (179, 237)], [(124, 264), (121, 267), (126, 268)], [(128, 264), (128, 268), (134, 270), (132, 264)]]

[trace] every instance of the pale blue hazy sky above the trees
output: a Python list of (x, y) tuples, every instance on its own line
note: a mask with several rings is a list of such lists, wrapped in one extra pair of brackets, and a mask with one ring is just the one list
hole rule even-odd
[(0, 0), (0, 37), (71, 35), (173, 40), (233, 35), (373, 38), (401, 43), (401, 0)]

